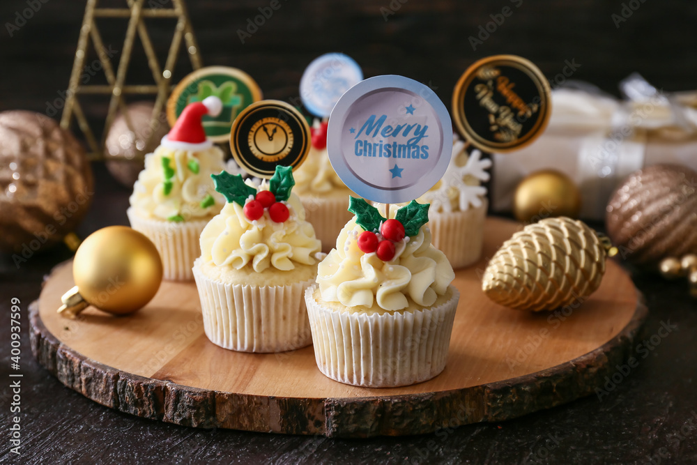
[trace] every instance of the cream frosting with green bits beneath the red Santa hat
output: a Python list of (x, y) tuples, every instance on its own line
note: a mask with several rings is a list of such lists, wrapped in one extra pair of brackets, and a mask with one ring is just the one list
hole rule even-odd
[(223, 152), (215, 146), (197, 152), (159, 146), (145, 157), (145, 169), (138, 175), (129, 199), (131, 206), (144, 218), (210, 218), (225, 203), (210, 178), (225, 169), (223, 158)]

